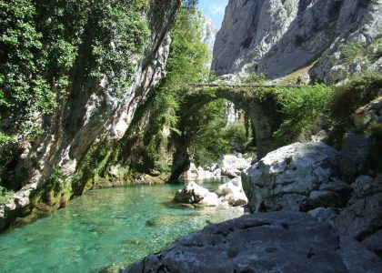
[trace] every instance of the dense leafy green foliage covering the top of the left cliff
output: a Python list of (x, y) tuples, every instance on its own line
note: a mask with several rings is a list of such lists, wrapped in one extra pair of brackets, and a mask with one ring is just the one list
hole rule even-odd
[(145, 50), (148, 0), (0, 0), (0, 129), (41, 134), (58, 93), (105, 75), (121, 95)]

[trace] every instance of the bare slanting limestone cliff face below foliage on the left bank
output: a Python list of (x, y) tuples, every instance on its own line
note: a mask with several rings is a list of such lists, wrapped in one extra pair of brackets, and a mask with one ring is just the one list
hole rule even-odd
[[(70, 197), (93, 186), (84, 179), (86, 167), (102, 167), (102, 160), (115, 154), (113, 149), (101, 148), (98, 154), (103, 157), (97, 162), (91, 151), (116, 147), (132, 125), (137, 107), (144, 104), (153, 86), (164, 76), (170, 44), (168, 33), (180, 1), (152, 1), (150, 5), (146, 14), (150, 40), (146, 53), (131, 59), (136, 64), (136, 73), (128, 89), (109, 90), (106, 76), (95, 82), (74, 81), (68, 94), (57, 95), (54, 114), (42, 121), (45, 134), (23, 143), (19, 157), (8, 170), (18, 186), (14, 197), (0, 204), (0, 230), (64, 207)], [(98, 165), (93, 166), (95, 163)]]

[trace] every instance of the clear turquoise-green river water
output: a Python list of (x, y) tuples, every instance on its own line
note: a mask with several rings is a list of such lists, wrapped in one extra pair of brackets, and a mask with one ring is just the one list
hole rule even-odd
[[(204, 181), (216, 189), (223, 181)], [(172, 202), (182, 185), (92, 190), (55, 214), (0, 234), (0, 272), (99, 272), (128, 265), (176, 238), (239, 217), (236, 209)]]

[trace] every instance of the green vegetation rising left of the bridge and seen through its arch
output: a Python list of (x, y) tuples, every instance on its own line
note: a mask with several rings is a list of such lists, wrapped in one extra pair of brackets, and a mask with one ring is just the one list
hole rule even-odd
[[(205, 83), (209, 76), (206, 66), (211, 56), (201, 39), (203, 24), (200, 11), (195, 3), (186, 3), (176, 16), (176, 24), (171, 33), (172, 44), (167, 63), (167, 75), (157, 88), (156, 96), (150, 108), (150, 124), (144, 136), (146, 152), (154, 161), (154, 167), (168, 171), (166, 151), (171, 153), (171, 139), (163, 134), (165, 129), (171, 134), (182, 134), (178, 128), (179, 107), (184, 102), (187, 93), (185, 87)], [(230, 147), (232, 143), (240, 143), (242, 147), (244, 126), (235, 135), (240, 141), (231, 136), (232, 129), (226, 128), (226, 102), (216, 101), (203, 107), (195, 113), (185, 127), (186, 134), (193, 138), (191, 142), (192, 156), (197, 164), (209, 164), (219, 155), (237, 150)], [(227, 133), (230, 132), (230, 133)], [(245, 134), (245, 133), (244, 133)], [(194, 135), (194, 136), (191, 136)], [(212, 137), (214, 136), (214, 137)], [(214, 139), (214, 141), (211, 141)], [(245, 142), (245, 141), (244, 141)]]

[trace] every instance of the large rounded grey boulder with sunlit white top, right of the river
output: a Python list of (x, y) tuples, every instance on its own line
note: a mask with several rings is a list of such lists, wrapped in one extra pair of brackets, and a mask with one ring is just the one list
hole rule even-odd
[(281, 147), (242, 172), (252, 212), (343, 207), (351, 187), (336, 177), (338, 152), (321, 142)]

